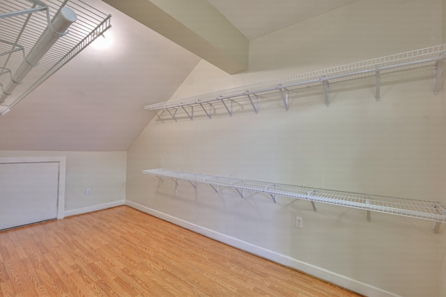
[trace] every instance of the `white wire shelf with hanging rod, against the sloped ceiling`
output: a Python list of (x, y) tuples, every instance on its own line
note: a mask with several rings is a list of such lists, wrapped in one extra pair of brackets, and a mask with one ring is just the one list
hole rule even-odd
[(71, 24), (68, 33), (61, 36), (38, 65), (24, 77), (13, 93), (0, 102), (0, 114), (8, 112), (111, 27), (111, 15), (106, 15), (81, 0), (0, 1), (0, 94), (40, 35), (64, 6), (74, 10), (77, 20)]

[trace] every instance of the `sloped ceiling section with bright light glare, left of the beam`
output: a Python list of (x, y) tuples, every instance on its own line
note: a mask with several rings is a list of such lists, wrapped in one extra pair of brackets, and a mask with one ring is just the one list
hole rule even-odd
[(126, 151), (153, 117), (144, 105), (168, 100), (199, 62), (102, 1), (89, 3), (112, 14), (112, 44), (93, 43), (0, 116), (0, 150)]

